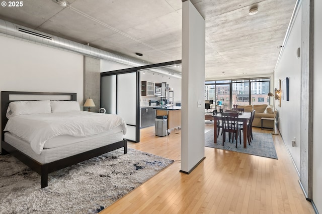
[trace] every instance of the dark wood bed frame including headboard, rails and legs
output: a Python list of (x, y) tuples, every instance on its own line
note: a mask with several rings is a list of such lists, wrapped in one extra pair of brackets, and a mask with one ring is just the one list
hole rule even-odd
[[(7, 124), (7, 108), (11, 101), (18, 101), (18, 100), (11, 100), (10, 95), (47, 95), (47, 96), (70, 96), (68, 101), (76, 101), (76, 93), (52, 93), (52, 92), (16, 92), (16, 91), (2, 91), (1, 92), (1, 124), (2, 130), (5, 129)], [(30, 101), (30, 100), (28, 100)], [(70, 157), (66, 157), (60, 160), (56, 160), (50, 163), (39, 163), (38, 161), (34, 160), (33, 158), (29, 157), (28, 155), (24, 154), (23, 152), (19, 151), (9, 143), (5, 141), (5, 132), (2, 131), (2, 140), (1, 140), (1, 147), (2, 147), (2, 154), (12, 154), (20, 161), (25, 163), (31, 169), (36, 171), (38, 174), (41, 175), (41, 188), (48, 186), (48, 173), (57, 171), (59, 169), (65, 168), (67, 166), (71, 166), (73, 164), (82, 162), (84, 160), (88, 160), (93, 157), (97, 157), (101, 154), (113, 151), (118, 148), (124, 147), (124, 154), (127, 153), (127, 139), (123, 139), (121, 141), (96, 148), (90, 151), (86, 151), (80, 154), (76, 154)]]

